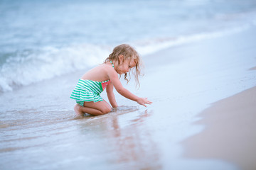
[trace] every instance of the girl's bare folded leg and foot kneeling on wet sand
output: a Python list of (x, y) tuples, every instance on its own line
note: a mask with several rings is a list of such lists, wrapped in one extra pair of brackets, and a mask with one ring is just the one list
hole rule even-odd
[(89, 113), (90, 115), (104, 115), (110, 113), (111, 106), (106, 101), (98, 101), (94, 103), (91, 102), (84, 102), (84, 106), (75, 105), (75, 113), (77, 115), (82, 115), (83, 113)]

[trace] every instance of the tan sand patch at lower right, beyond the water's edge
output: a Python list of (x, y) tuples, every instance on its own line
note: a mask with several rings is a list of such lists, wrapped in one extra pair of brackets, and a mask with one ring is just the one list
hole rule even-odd
[(256, 168), (256, 87), (215, 102), (198, 116), (206, 128), (183, 142), (193, 159), (223, 159), (240, 169)]

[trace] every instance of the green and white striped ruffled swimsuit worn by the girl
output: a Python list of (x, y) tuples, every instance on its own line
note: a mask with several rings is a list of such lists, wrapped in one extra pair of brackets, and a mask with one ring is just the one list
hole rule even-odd
[[(114, 64), (112, 64), (112, 67), (114, 67)], [(108, 84), (110, 84), (110, 80), (92, 81), (88, 79), (79, 79), (78, 85), (75, 86), (75, 89), (72, 91), (70, 98), (75, 99), (75, 101), (80, 106), (83, 106), (85, 101), (103, 101), (100, 93), (104, 91)]]

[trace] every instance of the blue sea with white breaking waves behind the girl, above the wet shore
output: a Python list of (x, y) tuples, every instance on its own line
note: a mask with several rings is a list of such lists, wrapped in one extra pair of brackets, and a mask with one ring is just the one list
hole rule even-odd
[(144, 57), (255, 21), (255, 0), (1, 0), (0, 91), (92, 67), (121, 43)]

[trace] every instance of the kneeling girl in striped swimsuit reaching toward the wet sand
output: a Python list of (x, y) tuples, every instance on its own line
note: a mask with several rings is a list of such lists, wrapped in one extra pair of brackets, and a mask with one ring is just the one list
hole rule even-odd
[[(79, 79), (78, 85), (70, 96), (70, 98), (75, 99), (77, 102), (74, 108), (75, 113), (77, 115), (82, 115), (83, 113), (91, 115), (110, 113), (111, 106), (117, 108), (113, 87), (119, 94), (132, 101), (137, 101), (140, 105), (146, 107), (145, 104), (151, 104), (152, 102), (148, 101), (147, 98), (140, 98), (129, 92), (119, 81), (118, 74), (124, 74), (124, 79), (128, 83), (127, 73), (135, 67), (134, 75), (137, 84), (139, 84), (140, 65), (140, 57), (133, 47), (126, 44), (114, 47), (113, 52), (103, 64), (90, 69)], [(100, 96), (100, 93), (105, 88), (111, 106)]]

